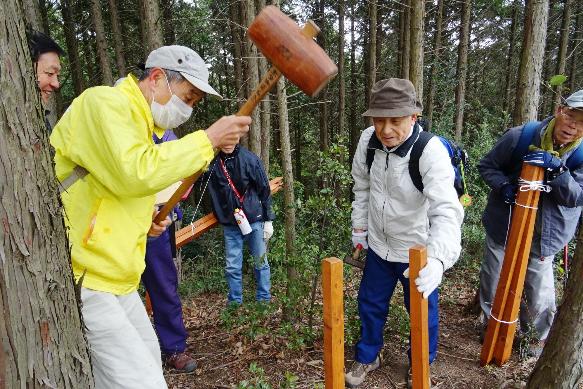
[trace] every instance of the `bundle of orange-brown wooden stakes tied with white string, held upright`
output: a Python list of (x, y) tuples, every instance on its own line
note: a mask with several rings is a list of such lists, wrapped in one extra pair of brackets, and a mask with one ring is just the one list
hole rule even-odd
[(531, 253), (536, 208), (543, 187), (534, 183), (542, 182), (544, 174), (543, 167), (532, 166), (526, 162), (522, 164), (522, 181), (519, 183), (504, 262), (480, 355), (482, 366), (488, 365), (492, 358), (498, 366), (504, 365), (510, 359), (524, 277)]

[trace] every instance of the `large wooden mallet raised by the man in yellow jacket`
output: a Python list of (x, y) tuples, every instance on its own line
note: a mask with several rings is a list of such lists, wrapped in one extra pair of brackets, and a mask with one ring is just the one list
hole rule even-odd
[[(247, 35), (273, 66), (236, 115), (251, 114), (282, 75), (308, 96), (314, 97), (318, 94), (338, 73), (338, 67), (313, 39), (319, 32), (318, 26), (311, 21), (300, 29), (296, 22), (274, 6), (267, 6), (259, 12)], [(218, 153), (219, 150), (216, 150), (215, 156)], [(201, 174), (202, 169), (182, 181), (180, 187), (154, 218), (155, 223), (160, 223), (166, 218)]]

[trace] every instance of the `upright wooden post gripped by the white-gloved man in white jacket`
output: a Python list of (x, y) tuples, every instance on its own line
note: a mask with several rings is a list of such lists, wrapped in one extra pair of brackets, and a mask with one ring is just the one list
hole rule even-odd
[(427, 248), (409, 249), (409, 296), (411, 310), (411, 373), (413, 389), (429, 389), (429, 313), (427, 299), (417, 290), (415, 279), (427, 265)]

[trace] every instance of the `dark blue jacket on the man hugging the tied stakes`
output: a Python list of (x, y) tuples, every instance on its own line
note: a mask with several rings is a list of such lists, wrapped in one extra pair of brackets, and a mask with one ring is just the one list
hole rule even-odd
[[(536, 128), (532, 144), (540, 147), (540, 137), (554, 116), (546, 118)], [(518, 185), (522, 169), (522, 159), (512, 159), (524, 125), (505, 132), (496, 145), (487, 153), (477, 169), (492, 191), (482, 216), (487, 234), (498, 244), (504, 245), (508, 233), (510, 209), (514, 205), (506, 204), (500, 190), (504, 183)], [(581, 146), (579, 146), (581, 147)], [(569, 150), (561, 158), (566, 160), (573, 152)], [(551, 177), (552, 178), (552, 177)], [(575, 234), (577, 222), (583, 205), (583, 164), (577, 169), (567, 170), (554, 180), (547, 182), (552, 190), (541, 192), (537, 211), (537, 223), (540, 225), (540, 254), (550, 257), (557, 254)]]

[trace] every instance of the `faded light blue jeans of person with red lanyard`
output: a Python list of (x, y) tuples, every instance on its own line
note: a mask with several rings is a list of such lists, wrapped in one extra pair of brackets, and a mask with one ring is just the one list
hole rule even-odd
[(229, 284), (229, 305), (243, 302), (243, 285), (241, 284), (241, 267), (243, 266), (243, 238), (253, 256), (255, 278), (257, 278), (257, 301), (271, 299), (271, 274), (263, 241), (264, 222), (251, 223), (252, 232), (243, 235), (238, 226), (223, 225), (224, 248), (226, 251), (227, 265), (224, 274)]

